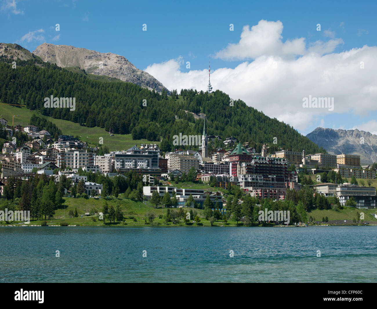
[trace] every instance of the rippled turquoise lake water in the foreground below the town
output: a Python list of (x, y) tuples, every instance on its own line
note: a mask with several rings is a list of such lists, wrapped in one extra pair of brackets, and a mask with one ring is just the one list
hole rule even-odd
[(0, 282), (376, 282), (377, 227), (0, 227), (0, 270)]

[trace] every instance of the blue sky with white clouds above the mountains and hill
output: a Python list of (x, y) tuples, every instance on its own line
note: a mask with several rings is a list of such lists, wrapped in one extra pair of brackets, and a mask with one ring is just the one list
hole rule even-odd
[[(303, 134), (317, 126), (377, 133), (375, 12), (371, 1), (3, 0), (0, 41), (124, 55), (179, 90), (205, 90), (210, 56), (214, 89)], [(304, 109), (309, 95), (334, 97), (334, 110)]]

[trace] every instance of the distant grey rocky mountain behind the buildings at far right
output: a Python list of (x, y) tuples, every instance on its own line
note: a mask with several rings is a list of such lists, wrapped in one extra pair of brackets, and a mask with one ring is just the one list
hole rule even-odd
[(377, 135), (370, 132), (316, 128), (307, 137), (325, 148), (329, 154), (360, 155), (361, 164), (377, 161)]

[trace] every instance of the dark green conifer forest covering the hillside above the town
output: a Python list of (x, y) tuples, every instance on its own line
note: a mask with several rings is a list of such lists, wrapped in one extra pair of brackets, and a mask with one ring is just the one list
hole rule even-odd
[[(176, 91), (168, 96), (158, 94), (132, 83), (96, 81), (86, 74), (59, 68), (39, 59), (11, 60), (0, 57), (0, 99), (8, 104), (26, 105), (43, 115), (74, 121), (82, 126), (104, 128), (115, 134), (132, 134), (134, 139), (162, 139), (162, 148), (172, 148), (173, 135), (199, 135), (204, 120), (195, 120), (190, 112), (206, 114), (207, 133), (236, 137), (260, 151), (263, 143), (277, 150), (279, 147), (307, 153), (323, 151), (291, 126), (267, 117), (248, 107), (243, 101), (230, 106), (227, 94), (213, 94), (193, 90)], [(75, 97), (74, 111), (69, 108), (44, 108), (44, 98)], [(143, 104), (144, 102), (144, 104)], [(178, 119), (177, 119), (178, 117)], [(83, 128), (84, 129), (84, 128)], [(277, 144), (273, 144), (274, 137)]]

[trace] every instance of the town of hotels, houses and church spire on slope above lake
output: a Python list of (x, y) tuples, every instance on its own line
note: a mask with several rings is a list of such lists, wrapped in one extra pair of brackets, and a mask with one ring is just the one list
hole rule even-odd
[[(207, 135), (205, 126), (197, 151), (175, 148), (162, 152), (157, 144), (109, 151), (107, 147), (89, 147), (70, 135), (55, 134), (52, 138), (47, 130), (34, 125), (9, 126), (4, 118), (0, 123), (6, 138), (0, 156), (0, 188), (7, 199), (14, 198), (17, 187), (23, 183), (43, 176), (47, 177), (47, 183), (52, 180), (59, 186), (62, 196), (107, 198), (128, 191), (127, 197), (156, 206), (201, 209), (207, 206), (209, 199), (212, 210), (219, 211), (222, 216), (230, 208), (224, 191), (207, 191), (195, 186), (181, 188), (176, 185), (178, 181), (222, 189), (238, 187), (242, 192), (239, 204), (245, 196), (256, 198), (256, 203), (264, 199), (297, 202), (299, 192), (310, 187), (313, 204), (318, 201), (322, 206), (327, 203), (359, 209), (376, 207), (376, 189), (371, 186), (376, 167), (361, 166), (359, 155), (305, 154), (305, 150), (284, 149), (270, 153), (267, 144), (262, 146), (261, 153), (257, 153), (250, 143), (242, 143), (234, 137), (223, 140), (220, 136)], [(17, 146), (20, 136), (23, 142)], [(223, 147), (212, 147), (209, 151), (209, 145), (215, 140), (221, 141)], [(138, 180), (132, 184), (127, 175), (138, 175)], [(117, 180), (110, 183), (109, 179), (114, 180), (114, 177)], [(118, 177), (123, 178), (123, 182), (128, 181), (127, 184), (122, 185)], [(361, 178), (360, 184), (356, 178)], [(142, 189), (139, 183), (143, 185)], [(155, 192), (159, 200), (156, 200)], [(175, 203), (164, 203), (166, 194), (175, 197)], [(18, 195), (23, 198), (21, 193)], [(323, 197), (330, 200), (323, 202)], [(27, 209), (31, 201), (21, 204), (26, 204)], [(305, 200), (303, 204), (310, 208)], [(233, 211), (230, 208), (228, 213)], [(245, 216), (240, 215), (239, 219), (242, 221)]]

